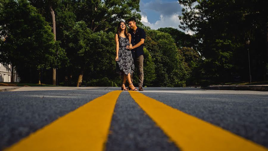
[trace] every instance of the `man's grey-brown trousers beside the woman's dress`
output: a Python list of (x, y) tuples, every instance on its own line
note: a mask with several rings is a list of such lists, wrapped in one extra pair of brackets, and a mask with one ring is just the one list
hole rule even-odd
[[(139, 87), (143, 85), (143, 55), (138, 56), (138, 58), (134, 59), (135, 68), (137, 68), (137, 75), (139, 77)], [(133, 83), (132, 75), (130, 76), (131, 82)]]

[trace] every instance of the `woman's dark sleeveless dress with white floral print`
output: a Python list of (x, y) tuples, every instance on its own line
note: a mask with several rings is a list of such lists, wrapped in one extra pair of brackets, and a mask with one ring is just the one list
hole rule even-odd
[(126, 46), (129, 45), (128, 37), (119, 38), (119, 51), (118, 51), (118, 61), (116, 61), (116, 73), (122, 75), (122, 73), (132, 75), (134, 72), (134, 61), (132, 57), (131, 50), (127, 49)]

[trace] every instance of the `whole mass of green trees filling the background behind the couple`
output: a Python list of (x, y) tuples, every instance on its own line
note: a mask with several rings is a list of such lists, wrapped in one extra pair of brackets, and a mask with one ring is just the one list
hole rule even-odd
[[(43, 69), (43, 81), (49, 84), (49, 73), (58, 67), (60, 85), (121, 85), (114, 34), (119, 21), (135, 18), (146, 31), (144, 86), (219, 83), (234, 76), (246, 80), (248, 56), (253, 80), (267, 79), (267, 1), (179, 2), (184, 6), (179, 27), (194, 35), (144, 26), (139, 0), (2, 0), (0, 62), (16, 66), (23, 81), (38, 80), (29, 73), (40, 80)], [(138, 81), (135, 73), (133, 79)]]

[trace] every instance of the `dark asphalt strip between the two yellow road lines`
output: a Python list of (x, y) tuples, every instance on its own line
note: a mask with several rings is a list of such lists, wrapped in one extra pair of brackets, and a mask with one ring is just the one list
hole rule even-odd
[(106, 151), (178, 151), (128, 92), (116, 102)]

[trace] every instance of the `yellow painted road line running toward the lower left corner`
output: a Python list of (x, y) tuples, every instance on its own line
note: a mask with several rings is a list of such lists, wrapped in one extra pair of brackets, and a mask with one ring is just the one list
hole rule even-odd
[(113, 91), (79, 107), (5, 151), (102, 151), (116, 100)]

